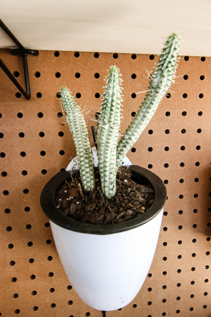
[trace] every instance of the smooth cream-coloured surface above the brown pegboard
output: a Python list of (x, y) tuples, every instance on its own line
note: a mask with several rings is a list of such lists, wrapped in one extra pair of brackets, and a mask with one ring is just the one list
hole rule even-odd
[(1, 0), (0, 18), (30, 49), (159, 54), (177, 32), (180, 55), (211, 56), (211, 0)]

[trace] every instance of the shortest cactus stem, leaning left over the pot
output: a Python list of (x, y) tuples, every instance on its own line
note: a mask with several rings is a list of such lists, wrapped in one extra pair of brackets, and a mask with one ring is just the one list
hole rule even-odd
[(92, 152), (84, 116), (66, 87), (61, 88), (61, 102), (78, 157), (81, 182), (85, 191), (95, 188)]

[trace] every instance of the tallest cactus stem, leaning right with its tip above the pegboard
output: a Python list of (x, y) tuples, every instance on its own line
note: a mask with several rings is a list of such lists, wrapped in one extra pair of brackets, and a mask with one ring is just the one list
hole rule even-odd
[(174, 82), (177, 69), (177, 54), (179, 36), (172, 33), (165, 42), (157, 68), (153, 71), (149, 81), (149, 88), (144, 101), (117, 146), (116, 166), (119, 167), (128, 150), (137, 141), (140, 134), (148, 125), (164, 94)]

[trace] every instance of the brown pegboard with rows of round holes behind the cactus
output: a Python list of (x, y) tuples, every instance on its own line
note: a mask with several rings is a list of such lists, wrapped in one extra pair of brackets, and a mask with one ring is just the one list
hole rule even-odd
[[(24, 87), (22, 58), (7, 49), (0, 55)], [(0, 70), (0, 316), (102, 316), (71, 287), (39, 202), (47, 181), (76, 154), (58, 93), (61, 86), (69, 87), (94, 117), (107, 69), (117, 65), (123, 78), (124, 132), (144, 98), (138, 93), (148, 87), (145, 69), (151, 71), (157, 60), (157, 55), (39, 51), (37, 57), (28, 56), (30, 100)], [(108, 317), (211, 316), (210, 62), (181, 56), (176, 83), (127, 154), (164, 181), (168, 198), (143, 287), (129, 305), (106, 312)], [(85, 120), (94, 146), (90, 127), (95, 122), (88, 115)]]

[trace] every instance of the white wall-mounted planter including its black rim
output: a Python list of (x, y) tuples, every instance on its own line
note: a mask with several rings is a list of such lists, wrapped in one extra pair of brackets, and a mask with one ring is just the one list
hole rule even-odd
[(166, 200), (162, 180), (145, 168), (131, 165), (132, 179), (150, 184), (155, 199), (140, 216), (117, 224), (80, 223), (63, 216), (55, 197), (68, 171), (59, 172), (43, 188), (40, 204), (50, 219), (59, 258), (75, 291), (90, 307), (115, 310), (138, 294), (155, 253)]

